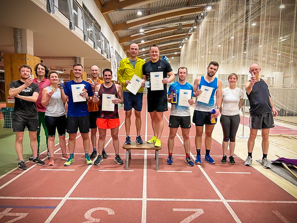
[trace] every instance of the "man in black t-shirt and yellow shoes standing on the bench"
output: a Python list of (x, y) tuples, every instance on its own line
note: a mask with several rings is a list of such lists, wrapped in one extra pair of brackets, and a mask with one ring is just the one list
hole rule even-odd
[[(143, 80), (150, 82), (148, 87), (147, 102), (148, 112), (151, 115), (151, 125), (154, 136), (147, 143), (155, 143), (155, 147), (161, 147), (161, 135), (164, 127), (163, 113), (167, 107), (167, 83), (174, 80), (174, 73), (165, 60), (159, 59), (159, 46), (150, 46), (151, 60), (142, 66)], [(167, 75), (169, 78), (167, 78)]]

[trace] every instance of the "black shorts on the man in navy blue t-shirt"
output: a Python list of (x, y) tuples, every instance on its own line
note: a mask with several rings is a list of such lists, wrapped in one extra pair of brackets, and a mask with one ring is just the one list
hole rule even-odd
[(69, 117), (67, 116), (67, 127), (66, 131), (69, 134), (75, 134), (77, 131), (80, 133), (88, 133), (90, 131), (90, 117), (79, 116), (79, 117)]

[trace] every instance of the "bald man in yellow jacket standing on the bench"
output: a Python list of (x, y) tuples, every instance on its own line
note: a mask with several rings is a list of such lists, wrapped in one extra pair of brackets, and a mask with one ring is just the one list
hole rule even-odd
[(123, 83), (123, 93), (124, 93), (124, 110), (126, 111), (125, 117), (125, 129), (126, 129), (126, 141), (125, 144), (131, 144), (131, 137), (130, 137), (130, 126), (131, 126), (131, 115), (132, 115), (132, 108), (134, 108), (135, 114), (135, 123), (136, 123), (136, 142), (137, 144), (143, 144), (143, 140), (140, 136), (140, 129), (141, 129), (141, 117), (140, 112), (142, 110), (142, 97), (143, 97), (143, 87), (144, 82), (142, 83), (142, 87), (138, 90), (137, 94), (134, 95), (133, 93), (127, 90), (127, 85), (130, 83), (130, 80), (134, 76), (134, 74), (140, 78), (142, 78), (142, 65), (145, 63), (143, 59), (137, 57), (138, 54), (138, 45), (132, 43), (130, 45), (129, 53), (130, 56), (122, 59), (119, 66), (118, 71), (118, 81)]

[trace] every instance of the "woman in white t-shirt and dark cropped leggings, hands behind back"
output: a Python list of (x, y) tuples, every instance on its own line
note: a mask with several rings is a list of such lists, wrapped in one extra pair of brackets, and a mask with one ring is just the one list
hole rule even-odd
[(223, 158), (221, 163), (227, 163), (228, 143), (230, 148), (229, 163), (235, 164), (233, 155), (235, 149), (235, 137), (240, 123), (239, 109), (243, 100), (243, 90), (236, 87), (238, 76), (236, 73), (231, 73), (228, 76), (229, 87), (222, 89), (222, 111), (220, 122), (222, 125), (224, 139), (222, 143)]

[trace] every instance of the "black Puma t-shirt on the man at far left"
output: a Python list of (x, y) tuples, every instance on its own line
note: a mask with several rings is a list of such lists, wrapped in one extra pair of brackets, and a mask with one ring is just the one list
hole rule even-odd
[[(18, 88), (24, 84), (23, 81), (12, 81), (9, 85), (9, 88)], [(37, 84), (32, 83), (30, 84), (29, 87), (26, 87), (23, 89), (19, 95), (21, 96), (32, 96), (34, 92), (39, 93), (39, 87)], [(35, 102), (33, 101), (26, 101), (20, 98), (15, 97), (15, 107), (13, 112), (15, 114), (20, 114), (20, 115), (36, 115), (37, 114), (37, 109)]]

